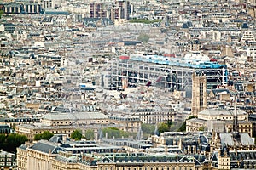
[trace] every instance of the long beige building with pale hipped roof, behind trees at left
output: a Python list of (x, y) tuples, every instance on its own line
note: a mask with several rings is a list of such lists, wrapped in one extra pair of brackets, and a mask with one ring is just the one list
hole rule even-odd
[[(108, 117), (99, 112), (83, 113), (49, 113), (42, 118), (42, 122), (33, 124), (20, 124), (15, 131), (26, 135), (32, 141), (34, 136), (44, 131), (54, 134), (67, 134), (70, 137), (76, 129), (85, 133), (86, 129), (93, 129), (95, 136), (99, 128), (117, 127), (130, 133), (137, 133), (142, 122), (132, 117)], [(95, 138), (97, 139), (97, 138)]]

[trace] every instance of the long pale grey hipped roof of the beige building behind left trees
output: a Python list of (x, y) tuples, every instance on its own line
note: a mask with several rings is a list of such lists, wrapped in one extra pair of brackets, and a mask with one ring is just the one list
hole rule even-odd
[(44, 115), (42, 119), (57, 121), (57, 120), (93, 120), (93, 119), (107, 119), (108, 116), (101, 112), (75, 112), (75, 113), (49, 113)]

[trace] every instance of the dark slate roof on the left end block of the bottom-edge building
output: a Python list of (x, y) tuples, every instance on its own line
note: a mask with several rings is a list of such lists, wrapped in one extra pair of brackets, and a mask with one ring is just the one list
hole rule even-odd
[(37, 144), (33, 144), (30, 149), (32, 150), (38, 150), (44, 153), (51, 153), (51, 154), (57, 154), (60, 150), (64, 151), (61, 147), (49, 143), (48, 141), (41, 140)]

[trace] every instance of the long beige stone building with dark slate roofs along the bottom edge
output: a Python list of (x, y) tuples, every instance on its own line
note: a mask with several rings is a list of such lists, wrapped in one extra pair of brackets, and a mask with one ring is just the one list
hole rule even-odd
[[(114, 146), (113, 146), (114, 147)], [(144, 153), (91, 153), (73, 154), (65, 147), (48, 141), (21, 145), (17, 152), (19, 170), (201, 170), (192, 156), (167, 154), (145, 155)], [(83, 150), (81, 148), (81, 150)], [(93, 148), (91, 149), (93, 150)]]

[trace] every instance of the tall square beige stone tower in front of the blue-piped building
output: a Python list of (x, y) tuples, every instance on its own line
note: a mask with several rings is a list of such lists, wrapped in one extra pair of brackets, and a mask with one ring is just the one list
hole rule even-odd
[(207, 108), (207, 78), (205, 75), (192, 75), (192, 115)]

